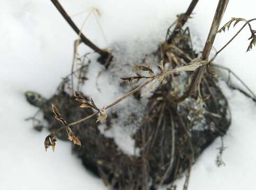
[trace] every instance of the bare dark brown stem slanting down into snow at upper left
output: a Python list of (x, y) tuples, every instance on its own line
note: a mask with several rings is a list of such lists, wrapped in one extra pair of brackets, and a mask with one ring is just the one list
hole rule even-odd
[(111, 54), (108, 51), (100, 49), (98, 46), (96, 46), (94, 43), (92, 43), (89, 39), (87, 39), (87, 37), (84, 36), (84, 34), (78, 29), (76, 24), (69, 17), (69, 15), (65, 11), (65, 9), (60, 5), (58, 0), (51, 0), (51, 2), (55, 5), (55, 7), (58, 9), (59, 13), (65, 18), (65, 20), (72, 27), (72, 29), (78, 35), (80, 35), (81, 41), (84, 44), (86, 44), (87, 46), (89, 46), (91, 49), (93, 49), (95, 52), (99, 53), (101, 55), (101, 61), (107, 60)]

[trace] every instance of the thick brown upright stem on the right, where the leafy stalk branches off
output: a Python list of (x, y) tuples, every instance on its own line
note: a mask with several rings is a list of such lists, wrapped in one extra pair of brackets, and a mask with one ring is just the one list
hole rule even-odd
[[(222, 20), (222, 17), (225, 13), (228, 1), (229, 0), (219, 0), (217, 9), (216, 9), (216, 12), (215, 12), (215, 15), (214, 15), (213, 22), (211, 23), (210, 32), (208, 34), (208, 37), (207, 37), (207, 40), (206, 40), (206, 43), (205, 43), (205, 48), (204, 48), (204, 51), (202, 52), (202, 57), (201, 57), (202, 60), (208, 60), (211, 48), (213, 47), (213, 43), (214, 43), (214, 40), (215, 40), (216, 33), (218, 31), (218, 28), (219, 28), (220, 21)], [(196, 73), (195, 73), (195, 75), (192, 79), (192, 82), (189, 86), (188, 91), (185, 92), (183, 94), (183, 96), (179, 98), (179, 100), (178, 100), (179, 102), (185, 100), (186, 98), (188, 98), (193, 93), (197, 84), (200, 83), (200, 80), (202, 78), (202, 75), (205, 72), (205, 69), (206, 69), (206, 65), (203, 65), (202, 67), (200, 67), (196, 71)]]

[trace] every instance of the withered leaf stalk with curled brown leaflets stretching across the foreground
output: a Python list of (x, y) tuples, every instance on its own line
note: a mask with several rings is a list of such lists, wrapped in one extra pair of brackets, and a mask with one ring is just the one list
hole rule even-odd
[[(149, 92), (152, 92), (155, 85), (156, 85), (156, 82), (159, 82), (161, 83), (164, 78), (167, 76), (167, 75), (170, 75), (172, 73), (175, 73), (175, 72), (182, 72), (182, 71), (195, 71), (197, 68), (201, 67), (202, 65), (205, 65), (207, 64), (208, 61), (206, 60), (202, 60), (200, 58), (196, 58), (196, 59), (193, 59), (189, 64), (183, 66), (183, 67), (179, 67), (179, 68), (175, 68), (175, 69), (170, 69), (170, 70), (167, 70), (167, 71), (164, 71), (164, 67), (163, 67), (163, 61), (160, 62), (160, 64), (158, 65), (158, 67), (161, 69), (161, 72), (159, 74), (154, 74), (154, 71), (152, 70), (152, 67), (151, 67), (151, 64), (150, 63), (146, 63), (146, 66), (145, 65), (133, 65), (133, 67), (136, 69), (136, 71), (147, 71), (149, 76), (144, 76), (144, 75), (139, 75), (137, 77), (126, 77), (126, 78), (121, 78), (121, 80), (123, 81), (126, 81), (126, 82), (132, 82), (132, 81), (135, 81), (135, 82), (138, 82), (138, 79), (146, 79), (147, 81), (144, 82), (143, 84), (141, 84), (139, 87), (137, 87), (136, 89), (130, 91), (129, 93), (125, 94), (125, 96), (119, 98), (118, 100), (112, 102), (110, 105), (106, 106), (106, 107), (103, 107), (102, 109), (99, 109), (93, 99), (91, 98), (91, 102), (89, 101), (86, 101), (85, 98), (83, 98), (78, 92), (74, 91), (74, 97), (75, 97), (75, 100), (77, 100), (78, 102), (81, 102), (81, 106), (80, 108), (92, 108), (94, 109), (96, 112), (94, 112), (92, 115), (90, 116), (87, 116), (81, 120), (78, 120), (78, 121), (75, 121), (71, 124), (68, 124), (68, 122), (63, 118), (63, 116), (60, 114), (59, 110), (57, 109), (57, 107), (55, 105), (52, 104), (52, 112), (54, 112), (55, 114), (55, 118), (57, 120), (59, 120), (62, 124), (64, 124), (63, 127), (60, 127), (58, 130), (52, 132), (49, 136), (47, 136), (47, 144), (45, 143), (45, 147), (46, 149), (49, 147), (49, 146), (52, 146), (51, 142), (52, 140), (49, 140), (49, 138), (51, 137), (51, 135), (53, 134), (56, 134), (56, 132), (60, 131), (60, 130), (63, 130), (63, 129), (66, 129), (67, 130), (67, 134), (68, 134), (68, 139), (70, 141), (73, 141), (74, 144), (76, 145), (79, 145), (81, 146), (81, 143), (80, 143), (80, 140), (75, 137), (73, 131), (70, 129), (70, 126), (73, 126), (73, 125), (76, 125), (76, 124), (79, 124), (80, 122), (84, 121), (84, 120), (87, 120), (91, 117), (93, 117), (94, 115), (98, 114), (99, 113), (99, 116), (96, 120), (96, 122), (102, 120), (102, 119), (106, 119), (107, 118), (107, 113), (105, 110), (107, 110), (108, 108), (116, 105), (117, 103), (119, 103), (120, 101), (122, 100), (125, 100), (126, 98), (128, 98), (129, 96), (131, 96), (132, 94), (136, 93), (137, 91), (139, 91), (140, 89), (144, 88), (145, 86), (147, 86), (149, 83), (153, 82), (153, 84), (151, 84), (151, 86), (149, 86), (145, 92), (142, 94), (142, 96), (144, 96), (144, 94), (146, 93), (149, 93)], [(139, 78), (138, 78), (139, 77)], [(55, 141), (54, 141), (54, 146), (55, 146)], [(52, 146), (52, 147), (54, 147)]]

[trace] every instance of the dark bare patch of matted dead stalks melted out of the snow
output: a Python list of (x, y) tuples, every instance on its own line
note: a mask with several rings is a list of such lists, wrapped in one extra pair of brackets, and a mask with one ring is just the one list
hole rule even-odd
[[(175, 68), (198, 55), (191, 48), (189, 35), (182, 32), (171, 45), (162, 43), (154, 56), (158, 61), (152, 64), (164, 60), (165, 67)], [(114, 62), (111, 64), (114, 67)], [(74, 152), (87, 169), (113, 189), (156, 189), (159, 184), (173, 182), (183, 172), (189, 174), (202, 151), (217, 137), (224, 136), (230, 125), (228, 103), (217, 85), (213, 65), (208, 65), (207, 71), (199, 87), (201, 99), (197, 91), (180, 103), (176, 101), (187, 89), (193, 72), (169, 75), (156, 88), (133, 136), (140, 149), (139, 156), (128, 156), (119, 150), (113, 139), (100, 133), (95, 119), (72, 126), (82, 144), (82, 147), (73, 146)], [(43, 103), (31, 103), (40, 107), (50, 131), (60, 126), (51, 111), (51, 103), (68, 122), (93, 113), (91, 108), (81, 109), (80, 103), (65, 90), (59, 90)], [(111, 124), (111, 119), (117, 117), (119, 113), (108, 113), (107, 123)], [(59, 132), (57, 137), (67, 140), (66, 131)]]

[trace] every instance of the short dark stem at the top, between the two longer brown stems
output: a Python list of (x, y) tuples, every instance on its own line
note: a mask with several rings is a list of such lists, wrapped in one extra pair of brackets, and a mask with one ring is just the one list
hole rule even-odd
[(178, 34), (180, 32), (180, 29), (187, 22), (189, 16), (191, 15), (193, 9), (196, 7), (198, 1), (199, 0), (192, 0), (191, 1), (186, 13), (181, 15), (181, 18), (179, 19), (178, 23), (176, 24), (175, 29), (173, 30), (173, 33), (171, 34), (171, 36), (167, 40), (167, 43), (171, 44), (171, 42), (174, 39), (174, 37), (176, 36), (176, 34)]

